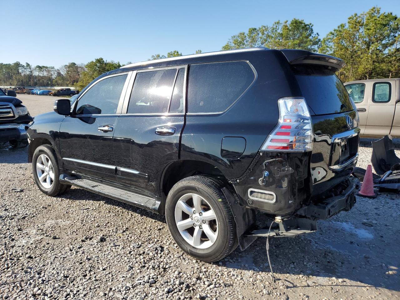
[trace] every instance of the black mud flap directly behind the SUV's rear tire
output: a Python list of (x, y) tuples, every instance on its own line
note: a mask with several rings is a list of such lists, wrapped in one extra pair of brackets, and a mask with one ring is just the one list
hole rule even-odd
[(239, 200), (227, 188), (222, 188), (222, 192), (228, 200), (230, 209), (235, 218), (236, 234), (238, 236), (240, 250), (246, 250), (246, 248), (257, 239), (257, 236), (244, 235), (244, 233), (256, 223), (256, 212), (242, 206)]

